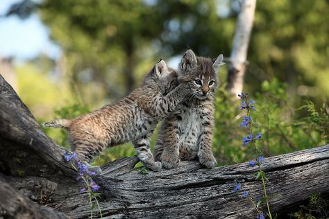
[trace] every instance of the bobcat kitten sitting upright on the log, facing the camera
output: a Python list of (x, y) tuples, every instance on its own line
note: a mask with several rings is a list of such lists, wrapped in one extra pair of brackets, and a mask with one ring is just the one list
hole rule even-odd
[(201, 164), (212, 168), (217, 164), (212, 155), (214, 130), (214, 96), (219, 80), (217, 69), (223, 65), (223, 55), (212, 62), (196, 57), (188, 50), (178, 66), (178, 78), (185, 77), (192, 91), (174, 112), (162, 122), (155, 142), (155, 161), (165, 168), (175, 168), (179, 161), (199, 157)]

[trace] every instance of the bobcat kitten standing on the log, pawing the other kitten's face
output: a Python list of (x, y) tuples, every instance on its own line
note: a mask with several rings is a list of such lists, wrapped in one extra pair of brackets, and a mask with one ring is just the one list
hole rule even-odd
[[(190, 92), (189, 85), (178, 85), (177, 73), (161, 60), (145, 76), (142, 86), (128, 96), (76, 119), (58, 119), (45, 127), (66, 128), (69, 144), (78, 160), (89, 163), (106, 147), (133, 142), (142, 164), (151, 170), (162, 168), (155, 162), (149, 137), (157, 125)], [(99, 167), (94, 170), (100, 172)]]

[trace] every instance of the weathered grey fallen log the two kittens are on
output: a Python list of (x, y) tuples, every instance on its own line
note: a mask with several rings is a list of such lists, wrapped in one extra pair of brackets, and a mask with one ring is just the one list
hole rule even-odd
[[(19, 218), (21, 211), (21, 218), (90, 216), (88, 195), (78, 193), (83, 185), (62, 160), (65, 150), (42, 132), (2, 76), (0, 121), (0, 217)], [(137, 161), (136, 156), (113, 161), (94, 177), (101, 186), (104, 217), (255, 218), (252, 204), (233, 188), (237, 180), (251, 196), (260, 197), (256, 167), (243, 163), (209, 170), (198, 161), (185, 161), (173, 170), (142, 175), (134, 168)], [(285, 212), (314, 192), (329, 192), (329, 145), (269, 157), (262, 167), (268, 194), (275, 197), (272, 212)]]

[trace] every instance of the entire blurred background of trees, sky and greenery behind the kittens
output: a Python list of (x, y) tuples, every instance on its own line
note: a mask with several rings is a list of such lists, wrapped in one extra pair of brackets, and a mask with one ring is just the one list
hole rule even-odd
[[(238, 0), (1, 0), (0, 73), (39, 123), (71, 118), (125, 96), (160, 60), (176, 68), (187, 49), (230, 57)], [(328, 143), (329, 3), (259, 0), (244, 91), (256, 101), (265, 156)], [(219, 165), (253, 158), (239, 101), (219, 70), (213, 150)], [(47, 134), (67, 147), (63, 130)], [(156, 133), (153, 136), (153, 141)], [(96, 164), (134, 155), (110, 148)]]

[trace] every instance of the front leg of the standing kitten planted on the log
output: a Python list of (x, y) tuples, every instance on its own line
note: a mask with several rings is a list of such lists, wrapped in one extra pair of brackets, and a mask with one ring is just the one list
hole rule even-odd
[(150, 150), (149, 138), (139, 139), (133, 141), (137, 157), (140, 159), (145, 168), (153, 171), (160, 171), (162, 169), (161, 162), (155, 162), (152, 152)]

